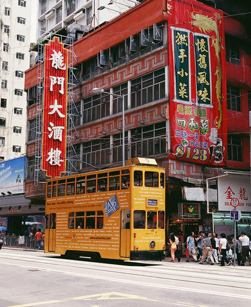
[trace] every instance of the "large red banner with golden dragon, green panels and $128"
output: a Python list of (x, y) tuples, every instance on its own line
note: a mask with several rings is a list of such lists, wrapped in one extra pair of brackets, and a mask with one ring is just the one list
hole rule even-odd
[(170, 158), (224, 165), (226, 73), (222, 11), (168, 0)]

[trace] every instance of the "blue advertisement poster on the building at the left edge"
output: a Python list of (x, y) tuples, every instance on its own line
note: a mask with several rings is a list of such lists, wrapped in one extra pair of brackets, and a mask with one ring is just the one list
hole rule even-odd
[(24, 193), (25, 157), (0, 162), (0, 193)]

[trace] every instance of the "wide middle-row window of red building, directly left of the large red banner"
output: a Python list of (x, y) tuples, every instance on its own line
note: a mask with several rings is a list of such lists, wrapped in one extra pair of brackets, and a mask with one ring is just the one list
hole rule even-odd
[(165, 97), (165, 70), (161, 68), (132, 80), (131, 106), (136, 107)]

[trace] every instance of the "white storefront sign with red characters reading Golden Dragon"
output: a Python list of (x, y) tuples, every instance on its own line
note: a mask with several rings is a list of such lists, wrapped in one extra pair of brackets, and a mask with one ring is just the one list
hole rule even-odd
[(233, 204), (236, 209), (242, 212), (251, 212), (250, 179), (248, 177), (225, 176), (218, 178), (219, 211), (231, 211)]

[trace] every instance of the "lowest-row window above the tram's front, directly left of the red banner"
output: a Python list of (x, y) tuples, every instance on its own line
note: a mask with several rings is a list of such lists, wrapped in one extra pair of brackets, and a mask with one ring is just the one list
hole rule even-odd
[(131, 130), (131, 157), (152, 157), (165, 153), (165, 121)]

